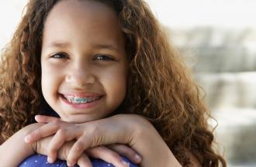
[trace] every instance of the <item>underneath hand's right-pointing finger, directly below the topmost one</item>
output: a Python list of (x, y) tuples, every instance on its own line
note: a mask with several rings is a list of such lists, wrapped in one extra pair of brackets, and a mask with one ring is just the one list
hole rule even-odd
[(120, 155), (118, 155), (116, 152), (113, 152), (111, 149), (106, 148), (105, 146), (88, 148), (85, 152), (87, 155), (93, 158), (100, 158), (117, 167), (129, 166), (127, 162), (123, 161), (123, 158)]

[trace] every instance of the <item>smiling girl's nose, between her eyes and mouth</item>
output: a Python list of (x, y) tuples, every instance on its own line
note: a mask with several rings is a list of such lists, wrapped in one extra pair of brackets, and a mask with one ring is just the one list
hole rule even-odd
[(85, 63), (74, 63), (68, 69), (65, 77), (67, 83), (71, 83), (73, 87), (85, 87), (87, 84), (95, 83), (95, 75), (92, 68)]

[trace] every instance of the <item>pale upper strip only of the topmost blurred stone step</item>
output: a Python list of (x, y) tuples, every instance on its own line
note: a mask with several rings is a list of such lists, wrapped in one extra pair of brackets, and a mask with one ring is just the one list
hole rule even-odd
[[(194, 29), (171, 29), (164, 27), (171, 42), (179, 48), (199, 46), (247, 46), (254, 49), (256, 29), (228, 29), (220, 27), (195, 27)], [(254, 49), (255, 50), (255, 49)]]

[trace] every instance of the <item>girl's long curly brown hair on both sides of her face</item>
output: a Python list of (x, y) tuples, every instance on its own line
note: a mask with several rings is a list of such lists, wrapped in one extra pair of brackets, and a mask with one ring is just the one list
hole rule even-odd
[[(92, 0), (91, 0), (92, 1)], [(126, 37), (130, 62), (123, 111), (147, 118), (184, 166), (190, 154), (202, 166), (226, 163), (213, 149), (209, 113), (181, 56), (142, 0), (95, 0), (116, 11)], [(0, 65), (0, 129), (6, 140), (30, 124), (45, 101), (41, 92), (40, 53), (43, 25), (59, 0), (29, 0), (12, 40), (2, 50)]]

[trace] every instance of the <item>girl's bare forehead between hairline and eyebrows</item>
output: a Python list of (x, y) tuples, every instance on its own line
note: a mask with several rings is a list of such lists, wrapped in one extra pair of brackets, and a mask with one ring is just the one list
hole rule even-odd
[(51, 9), (43, 29), (43, 43), (56, 40), (123, 45), (116, 12), (102, 2), (63, 0)]

